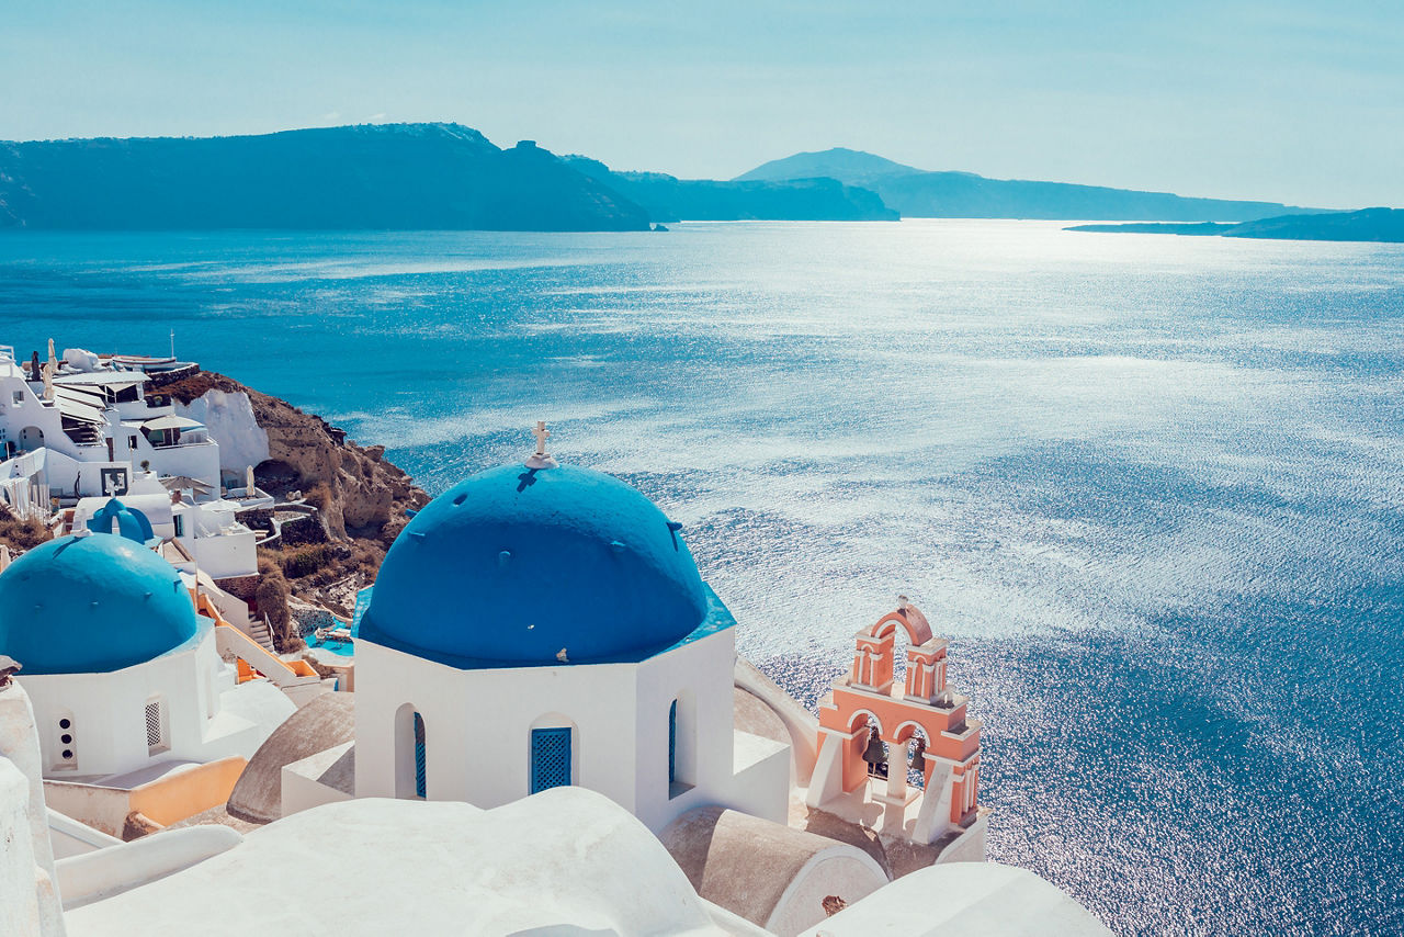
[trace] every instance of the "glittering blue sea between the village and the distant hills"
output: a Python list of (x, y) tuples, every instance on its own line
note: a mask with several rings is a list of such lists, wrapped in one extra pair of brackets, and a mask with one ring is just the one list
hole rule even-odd
[(1056, 223), (0, 236), (0, 341), (163, 354), (431, 493), (524, 457), (685, 524), (813, 704), (897, 593), (990, 856), (1122, 934), (1404, 931), (1404, 247)]

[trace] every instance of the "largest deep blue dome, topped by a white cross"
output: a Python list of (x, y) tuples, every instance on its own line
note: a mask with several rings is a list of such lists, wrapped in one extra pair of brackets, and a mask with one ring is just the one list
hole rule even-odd
[(653, 502), (590, 469), (461, 482), (390, 546), (359, 636), (458, 667), (636, 660), (708, 617), (696, 563)]

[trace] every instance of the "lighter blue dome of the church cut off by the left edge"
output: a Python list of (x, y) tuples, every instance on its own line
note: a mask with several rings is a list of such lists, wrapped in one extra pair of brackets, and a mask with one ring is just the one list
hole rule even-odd
[(0, 653), (24, 676), (121, 670), (198, 634), (180, 573), (125, 537), (62, 537), (0, 575)]

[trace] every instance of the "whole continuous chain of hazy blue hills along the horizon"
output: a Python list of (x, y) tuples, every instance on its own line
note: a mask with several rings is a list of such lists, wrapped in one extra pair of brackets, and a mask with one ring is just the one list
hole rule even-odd
[(678, 178), (556, 156), (532, 140), (501, 149), (461, 124), (0, 142), (0, 230), (643, 232), (677, 221), (904, 216), (1207, 223), (1316, 211), (928, 171), (841, 148), (730, 181)]

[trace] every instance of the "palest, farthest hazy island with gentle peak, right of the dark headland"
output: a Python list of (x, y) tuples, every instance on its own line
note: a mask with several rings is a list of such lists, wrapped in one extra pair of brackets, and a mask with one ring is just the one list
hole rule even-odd
[[(1033, 218), (1070, 221), (1171, 222), (1252, 221), (1290, 211), (1280, 202), (1241, 202), (1217, 198), (1185, 198), (1170, 192), (986, 178), (974, 173), (931, 171), (890, 159), (835, 148), (796, 153), (772, 160), (736, 181), (795, 181), (827, 177), (845, 185), (870, 188), (903, 218)], [(1316, 211), (1316, 209), (1296, 209)]]

